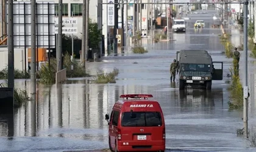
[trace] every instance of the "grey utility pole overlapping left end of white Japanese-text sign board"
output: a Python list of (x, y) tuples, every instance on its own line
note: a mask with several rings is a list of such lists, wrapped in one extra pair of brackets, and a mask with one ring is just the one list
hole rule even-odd
[(58, 23), (58, 52), (57, 52), (57, 71), (62, 68), (62, 0), (59, 0), (59, 23)]

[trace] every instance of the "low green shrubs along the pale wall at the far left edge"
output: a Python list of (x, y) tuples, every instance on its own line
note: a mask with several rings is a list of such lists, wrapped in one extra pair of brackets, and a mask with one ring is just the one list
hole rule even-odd
[[(8, 78), (8, 66), (0, 71), (0, 79), (7, 79)], [(21, 79), (21, 78), (30, 78), (29, 72), (20, 71), (15, 69), (14, 70), (14, 78)]]

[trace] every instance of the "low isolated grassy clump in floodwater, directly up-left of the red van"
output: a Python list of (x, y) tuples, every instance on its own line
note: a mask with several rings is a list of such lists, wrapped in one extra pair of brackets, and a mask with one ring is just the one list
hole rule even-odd
[(114, 68), (112, 72), (106, 73), (103, 71), (97, 72), (97, 75), (93, 78), (94, 83), (105, 84), (105, 83), (116, 83), (116, 77), (119, 74), (119, 70)]

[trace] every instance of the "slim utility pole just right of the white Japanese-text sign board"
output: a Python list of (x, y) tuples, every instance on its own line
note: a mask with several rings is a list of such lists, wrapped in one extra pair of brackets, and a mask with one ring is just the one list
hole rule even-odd
[[(86, 18), (85, 18), (85, 62), (87, 61), (88, 58), (88, 50), (89, 50), (89, 1), (86, 1)], [(91, 57), (93, 57), (93, 54), (91, 54)]]

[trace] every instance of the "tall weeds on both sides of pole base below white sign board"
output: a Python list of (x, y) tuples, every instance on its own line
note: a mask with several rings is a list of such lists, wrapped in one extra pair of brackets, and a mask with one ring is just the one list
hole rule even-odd
[[(77, 77), (88, 77), (89, 75), (85, 72), (84, 67), (79, 61), (71, 61), (71, 55), (67, 52), (63, 57), (63, 68), (66, 68), (66, 77), (77, 78)], [(71, 69), (73, 65), (73, 69)], [(51, 85), (55, 83), (55, 73), (57, 72), (57, 60), (55, 58), (50, 59), (50, 65), (45, 64), (41, 67), (40, 71), (37, 72), (37, 78), (40, 78), (40, 83), (44, 85)]]

